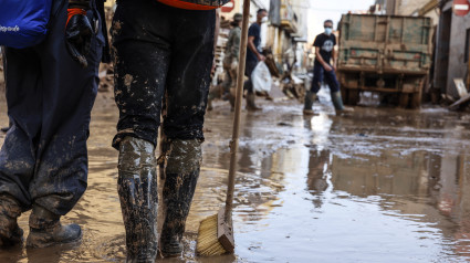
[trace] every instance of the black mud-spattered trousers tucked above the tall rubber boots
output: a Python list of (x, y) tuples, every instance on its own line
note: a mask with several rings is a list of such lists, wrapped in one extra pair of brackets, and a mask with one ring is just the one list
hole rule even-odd
[(115, 99), (113, 147), (126, 136), (157, 144), (164, 107), (169, 139), (203, 139), (213, 60), (216, 13), (157, 1), (122, 0), (113, 21)]

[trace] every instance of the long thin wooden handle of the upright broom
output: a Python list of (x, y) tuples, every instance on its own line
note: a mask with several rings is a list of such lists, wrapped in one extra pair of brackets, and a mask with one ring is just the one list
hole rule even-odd
[(230, 141), (230, 170), (229, 170), (229, 183), (227, 189), (226, 200), (226, 222), (231, 221), (231, 212), (233, 208), (233, 191), (234, 191), (234, 177), (237, 171), (237, 151), (238, 151), (238, 138), (240, 135), (240, 114), (241, 114), (241, 101), (243, 96), (243, 76), (244, 66), (247, 62), (247, 42), (248, 42), (248, 22), (250, 18), (250, 0), (243, 0), (243, 20), (241, 27), (241, 40), (240, 40), (240, 52), (239, 52), (239, 65), (237, 76), (237, 95), (236, 95), (236, 111), (233, 118), (233, 132), (232, 140)]

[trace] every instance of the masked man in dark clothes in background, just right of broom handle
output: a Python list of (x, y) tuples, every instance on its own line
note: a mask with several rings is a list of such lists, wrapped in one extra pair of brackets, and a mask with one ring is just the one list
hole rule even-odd
[(244, 90), (247, 90), (247, 109), (248, 111), (259, 111), (261, 109), (254, 104), (254, 91), (253, 82), (251, 80), (251, 73), (253, 73), (254, 67), (257, 67), (258, 62), (264, 61), (265, 57), (260, 53), (261, 50), (261, 24), (268, 21), (268, 11), (265, 9), (259, 9), (257, 12), (257, 22), (250, 25), (248, 30), (248, 46), (247, 46), (247, 66), (244, 70), (244, 75), (249, 80), (244, 83)]

